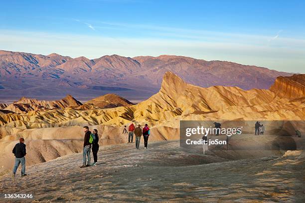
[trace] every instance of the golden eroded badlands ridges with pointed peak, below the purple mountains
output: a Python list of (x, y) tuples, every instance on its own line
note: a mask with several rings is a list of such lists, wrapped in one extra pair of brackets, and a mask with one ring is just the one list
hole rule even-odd
[(179, 139), (180, 120), (304, 120), (304, 77), (279, 77), (270, 90), (245, 91), (201, 88), (166, 72), (159, 92), (135, 105), (115, 95), (85, 104), (71, 96), (53, 102), (23, 98), (3, 109), (14, 111), (11, 106), (19, 104), (29, 109), (0, 114), (0, 159), (6, 160), (0, 170), (12, 166), (11, 149), (19, 137), (26, 140), (29, 165), (80, 152), (84, 125), (97, 128), (100, 143), (106, 145), (126, 142), (122, 127), (132, 121), (152, 126), (151, 140), (172, 140)]

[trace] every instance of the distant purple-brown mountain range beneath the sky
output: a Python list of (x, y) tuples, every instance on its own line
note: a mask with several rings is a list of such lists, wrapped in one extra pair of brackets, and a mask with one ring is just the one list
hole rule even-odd
[(277, 77), (293, 75), (227, 61), (172, 55), (73, 59), (56, 53), (44, 56), (0, 51), (0, 95), (7, 98), (71, 94), (91, 99), (116, 92), (129, 100), (144, 100), (158, 91), (167, 71), (200, 87), (221, 85), (244, 90), (269, 89)]

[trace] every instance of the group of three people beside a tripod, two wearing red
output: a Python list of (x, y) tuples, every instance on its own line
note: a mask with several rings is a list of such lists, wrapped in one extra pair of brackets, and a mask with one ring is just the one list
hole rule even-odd
[[(148, 145), (148, 139), (150, 136), (150, 128), (148, 124), (145, 124), (144, 128), (141, 128), (141, 125), (139, 124), (137, 127), (135, 127), (134, 123), (130, 124), (128, 127), (128, 143), (132, 143), (134, 140), (134, 134), (136, 136), (136, 148), (139, 149), (140, 146), (140, 140), (141, 136), (143, 135), (144, 139), (144, 148), (147, 149)], [(123, 134), (127, 133), (126, 125), (124, 126)]]

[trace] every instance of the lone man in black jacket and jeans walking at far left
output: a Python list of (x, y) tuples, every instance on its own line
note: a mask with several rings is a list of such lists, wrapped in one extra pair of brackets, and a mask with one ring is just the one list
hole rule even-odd
[(25, 155), (26, 155), (26, 150), (25, 150), (25, 144), (24, 144), (24, 139), (21, 137), (19, 139), (19, 143), (16, 144), (12, 150), (12, 153), (15, 155), (15, 166), (13, 169), (13, 174), (12, 176), (14, 177), (17, 171), (17, 168), (19, 164), (21, 163), (21, 177), (26, 176), (25, 174)]

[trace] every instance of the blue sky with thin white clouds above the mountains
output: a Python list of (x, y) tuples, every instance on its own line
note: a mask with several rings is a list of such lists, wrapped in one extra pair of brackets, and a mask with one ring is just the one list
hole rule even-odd
[(183, 55), (304, 73), (304, 10), (304, 0), (7, 0), (0, 49)]

